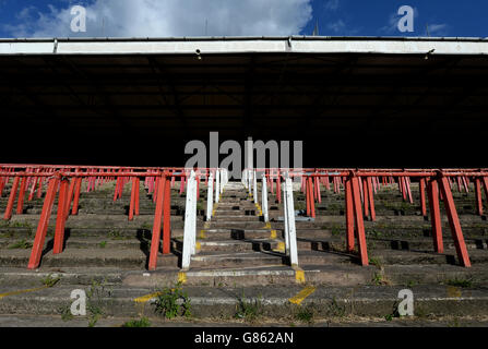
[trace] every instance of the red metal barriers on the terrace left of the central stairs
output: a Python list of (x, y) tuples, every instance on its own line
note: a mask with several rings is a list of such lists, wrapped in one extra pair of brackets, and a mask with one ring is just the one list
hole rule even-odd
[[(112, 170), (110, 170), (107, 167), (99, 167), (85, 169), (86, 171), (75, 168), (74, 171), (72, 171), (73, 168), (62, 167), (62, 171), (60, 171), (52, 168), (46, 168), (46, 166), (39, 166), (38, 168), (34, 167), (35, 166), (16, 166), (7, 168), (4, 165), (0, 166), (0, 194), (3, 192), (9, 179), (13, 177), (13, 183), (3, 216), (4, 220), (9, 220), (12, 217), (13, 205), (16, 196), (19, 197), (16, 214), (22, 214), (26, 190), (31, 188), (28, 201), (33, 200), (36, 191), (37, 197), (40, 198), (43, 190), (46, 190), (46, 196), (27, 266), (29, 269), (34, 269), (39, 266), (47, 228), (52, 213), (52, 206), (58, 193), (58, 212), (55, 228), (53, 254), (62, 253), (64, 225), (69, 218), (70, 209), (71, 215), (78, 214), (82, 181), (86, 181), (86, 191), (91, 192), (96, 190), (96, 188), (103, 183), (107, 183), (110, 180), (116, 180), (114, 201), (121, 198), (124, 185), (131, 182), (131, 198), (128, 219), (132, 220), (134, 215), (139, 215), (140, 179), (144, 178), (144, 185), (148, 189), (150, 193), (153, 193), (153, 200), (156, 203), (148, 269), (153, 270), (156, 268), (157, 255), (159, 252), (162, 222), (163, 254), (168, 254), (170, 252), (170, 188), (175, 183), (175, 178), (180, 178), (180, 190), (181, 192), (185, 191), (188, 169), (168, 168), (167, 170), (162, 171), (140, 168), (145, 171), (134, 171), (134, 168), (128, 169), (112, 167)], [(25, 170), (14, 171), (15, 168), (24, 168)], [(57, 169), (58, 168), (60, 167), (57, 167)], [(212, 174), (215, 171), (216, 169), (209, 168), (197, 169), (197, 178), (200, 181), (201, 177), (205, 177), (206, 181), (209, 173)], [(46, 188), (43, 185), (45, 180), (47, 180)]]

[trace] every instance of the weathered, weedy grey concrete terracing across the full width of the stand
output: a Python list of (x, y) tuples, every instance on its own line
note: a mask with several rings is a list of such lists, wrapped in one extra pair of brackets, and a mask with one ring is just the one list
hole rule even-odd
[[(317, 316), (324, 318), (335, 316), (331, 313), (334, 306), (344, 309), (344, 316), (384, 317), (403, 288), (414, 291), (416, 309), (429, 320), (488, 315), (488, 222), (485, 216), (475, 215), (473, 190), (454, 192), (473, 263), (472, 268), (463, 268), (456, 264), (444, 215), (445, 253), (432, 252), (430, 221), (420, 215), (418, 189), (415, 183), (412, 186), (414, 204), (403, 202), (395, 185), (382, 188), (374, 195), (378, 217), (366, 221), (371, 263), (367, 267), (358, 265), (355, 254), (344, 251), (343, 193), (322, 188), (317, 218), (297, 220), (300, 269), (294, 269), (283, 253), (283, 221), (278, 219), (283, 208), (274, 195), (269, 198), (271, 222), (265, 224), (243, 186), (229, 182), (214, 207), (212, 220), (205, 221), (206, 186), (201, 183), (199, 251), (185, 275), (179, 268), (185, 195), (178, 194), (178, 185), (171, 192), (172, 251), (159, 255), (158, 267), (151, 273), (145, 265), (155, 205), (142, 185), (141, 215), (133, 221), (128, 221), (127, 214), (129, 185), (116, 203), (112, 183), (95, 192), (83, 191), (80, 214), (68, 219), (66, 250), (59, 255), (51, 251), (56, 225), (52, 215), (37, 270), (27, 270), (26, 266), (43, 200), (25, 201), (23, 215), (14, 214), (10, 221), (0, 222), (0, 314), (60, 316), (59, 309), (71, 302), (71, 290), (88, 290), (96, 285), (110, 289), (102, 297), (105, 315), (138, 316), (141, 309), (135, 298), (183, 280), (194, 315), (204, 318), (221, 318), (223, 314), (231, 318), (234, 304), (246, 294), (249, 299), (261, 297), (267, 304), (266, 316), (279, 320), (295, 312), (296, 305), (288, 300), (305, 286), (313, 287), (314, 292), (301, 304), (313, 308)], [(9, 191), (5, 188), (0, 197), (0, 212), (5, 208)], [(295, 192), (294, 197), (296, 209), (305, 208), (303, 195)], [(55, 287), (24, 292), (43, 286), (49, 275), (61, 278)], [(154, 315), (150, 305), (145, 312)]]

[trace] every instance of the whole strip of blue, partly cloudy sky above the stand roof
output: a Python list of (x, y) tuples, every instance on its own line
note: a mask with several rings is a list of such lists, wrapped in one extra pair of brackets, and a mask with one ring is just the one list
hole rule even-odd
[[(73, 33), (73, 5), (86, 32)], [(415, 9), (414, 33), (396, 28)], [(487, 37), (486, 0), (0, 0), (0, 37), (310, 35)]]

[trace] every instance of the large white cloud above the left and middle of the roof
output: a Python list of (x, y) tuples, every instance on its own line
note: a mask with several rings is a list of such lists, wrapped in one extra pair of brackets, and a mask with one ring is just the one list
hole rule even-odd
[(311, 0), (95, 0), (86, 33), (72, 33), (70, 8), (24, 9), (22, 23), (4, 25), (15, 37), (272, 36), (298, 34), (311, 20)]

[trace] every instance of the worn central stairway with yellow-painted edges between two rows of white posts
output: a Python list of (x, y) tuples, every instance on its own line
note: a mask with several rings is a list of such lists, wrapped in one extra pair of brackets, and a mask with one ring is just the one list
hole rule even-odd
[[(181, 241), (178, 241), (181, 245)], [(198, 233), (188, 281), (225, 285), (294, 284), (284, 241), (265, 224), (240, 182), (229, 182), (214, 206), (211, 221)]]

